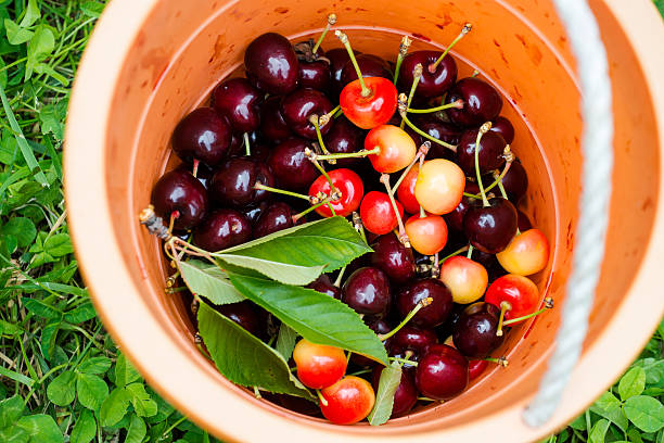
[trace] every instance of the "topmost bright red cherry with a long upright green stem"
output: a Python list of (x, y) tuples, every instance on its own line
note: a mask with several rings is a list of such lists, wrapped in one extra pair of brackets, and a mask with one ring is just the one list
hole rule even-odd
[(397, 105), (397, 90), (383, 77), (367, 77), (365, 85), (370, 90), (367, 97), (362, 96), (359, 79), (353, 80), (341, 91), (339, 103), (346, 118), (362, 129), (371, 129), (392, 118)]

